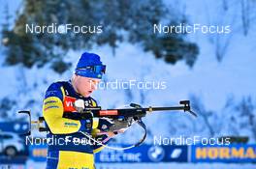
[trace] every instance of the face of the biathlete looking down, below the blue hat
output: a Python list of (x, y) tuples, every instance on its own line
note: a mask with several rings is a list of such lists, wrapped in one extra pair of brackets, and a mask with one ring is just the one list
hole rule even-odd
[(97, 89), (100, 81), (101, 79), (98, 78), (83, 77), (75, 74), (73, 85), (81, 96), (87, 98)]

